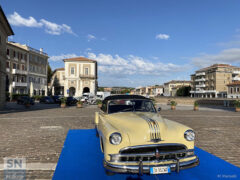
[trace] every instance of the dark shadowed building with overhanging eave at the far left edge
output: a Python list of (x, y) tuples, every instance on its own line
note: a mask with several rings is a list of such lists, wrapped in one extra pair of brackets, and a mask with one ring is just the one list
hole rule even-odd
[(6, 100), (6, 44), (11, 35), (14, 33), (0, 6), (0, 108), (3, 108)]

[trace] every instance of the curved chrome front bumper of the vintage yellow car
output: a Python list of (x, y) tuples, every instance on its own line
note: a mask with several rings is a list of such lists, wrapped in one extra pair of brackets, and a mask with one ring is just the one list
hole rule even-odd
[(171, 164), (161, 164), (161, 165), (143, 165), (141, 162), (139, 165), (115, 165), (108, 163), (104, 161), (103, 165), (104, 167), (114, 173), (134, 173), (134, 174), (150, 174), (150, 168), (151, 167), (157, 167), (157, 166), (170, 166), (171, 172), (176, 171), (179, 172), (179, 170), (187, 169), (195, 167), (199, 164), (199, 159), (196, 156), (195, 159), (179, 162), (179, 160), (176, 160), (176, 163)]

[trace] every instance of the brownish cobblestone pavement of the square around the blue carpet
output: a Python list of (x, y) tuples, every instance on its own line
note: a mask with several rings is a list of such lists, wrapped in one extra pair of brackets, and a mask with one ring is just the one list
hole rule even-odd
[[(0, 164), (4, 157), (26, 157), (28, 179), (51, 179), (69, 129), (94, 128), (96, 106), (61, 109), (10, 104), (0, 111)], [(232, 111), (161, 111), (163, 117), (192, 127), (196, 146), (240, 167), (240, 113)], [(37, 167), (36, 167), (37, 164)], [(3, 176), (0, 166), (0, 178)]]

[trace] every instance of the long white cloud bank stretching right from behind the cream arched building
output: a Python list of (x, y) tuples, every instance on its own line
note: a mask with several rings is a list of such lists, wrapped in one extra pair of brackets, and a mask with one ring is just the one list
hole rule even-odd
[(98, 69), (102, 73), (125, 77), (126, 75), (166, 75), (172, 72), (184, 72), (188, 65), (176, 65), (172, 63), (153, 63), (142, 57), (129, 55), (126, 58), (119, 55), (87, 53), (88, 58), (97, 60)]

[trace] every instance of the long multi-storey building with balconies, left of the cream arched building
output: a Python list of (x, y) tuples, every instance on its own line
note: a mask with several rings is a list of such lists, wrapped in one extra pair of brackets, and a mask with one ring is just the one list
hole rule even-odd
[(27, 45), (7, 42), (7, 91), (12, 94), (47, 95), (48, 56)]

